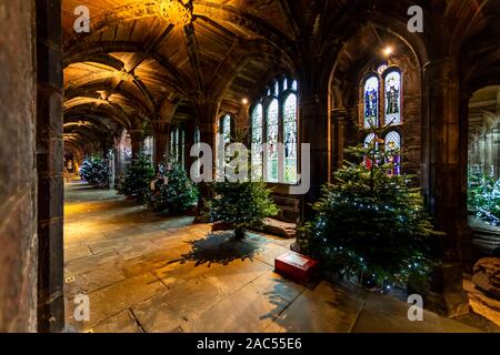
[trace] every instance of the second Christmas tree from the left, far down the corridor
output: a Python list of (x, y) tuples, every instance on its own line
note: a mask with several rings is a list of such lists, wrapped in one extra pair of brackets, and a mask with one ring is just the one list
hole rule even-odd
[(154, 169), (150, 156), (139, 154), (136, 159), (132, 159), (130, 168), (118, 186), (118, 193), (133, 196), (138, 201), (143, 202), (153, 178)]

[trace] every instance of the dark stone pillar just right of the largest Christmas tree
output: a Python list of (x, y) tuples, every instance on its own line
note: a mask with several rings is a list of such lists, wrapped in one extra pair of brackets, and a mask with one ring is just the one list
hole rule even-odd
[[(448, 316), (469, 312), (462, 288), (462, 266), (467, 258), (462, 244), (467, 237), (467, 187), (463, 186), (467, 168), (467, 131), (463, 132), (458, 60), (444, 58), (424, 67), (430, 163), (429, 207), (436, 217), (436, 229), (447, 233), (444, 264), (434, 277), (432, 288), (439, 307)], [(463, 114), (463, 113), (462, 113)], [(462, 121), (462, 122), (460, 122)]]

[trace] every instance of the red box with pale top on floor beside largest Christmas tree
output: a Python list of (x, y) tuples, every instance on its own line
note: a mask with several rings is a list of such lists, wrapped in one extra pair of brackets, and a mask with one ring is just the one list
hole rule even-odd
[(302, 285), (309, 284), (318, 262), (309, 256), (287, 252), (274, 260), (274, 272)]

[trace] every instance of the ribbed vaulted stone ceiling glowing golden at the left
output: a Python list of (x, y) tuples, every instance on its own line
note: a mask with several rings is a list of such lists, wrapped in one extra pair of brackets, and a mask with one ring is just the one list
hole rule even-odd
[[(74, 9), (82, 4), (90, 33), (77, 34)], [(406, 31), (412, 4), (424, 8), (432, 26), (421, 36)], [(63, 0), (62, 7), (64, 131), (73, 142), (150, 126), (172, 106), (174, 121), (194, 118), (197, 104), (210, 100), (238, 112), (278, 72), (293, 73), (304, 88), (314, 85), (300, 72), (309, 67), (339, 68), (341, 80), (383, 33), (402, 40), (421, 65), (433, 53), (463, 48), (464, 61), (487, 57), (494, 67), (500, 60), (498, 0), (194, 0), (192, 24), (183, 28), (160, 16), (157, 0)], [(442, 42), (432, 42), (437, 32)]]

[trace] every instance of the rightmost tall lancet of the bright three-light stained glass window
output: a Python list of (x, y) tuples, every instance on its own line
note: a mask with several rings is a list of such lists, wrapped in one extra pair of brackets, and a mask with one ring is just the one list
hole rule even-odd
[(290, 94), (283, 105), (284, 182), (297, 183), (297, 95)]

